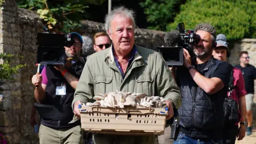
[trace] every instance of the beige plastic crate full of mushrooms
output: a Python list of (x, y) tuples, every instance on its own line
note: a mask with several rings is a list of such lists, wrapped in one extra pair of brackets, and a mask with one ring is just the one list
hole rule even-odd
[(164, 108), (81, 107), (84, 131), (118, 135), (160, 135), (164, 133)]

